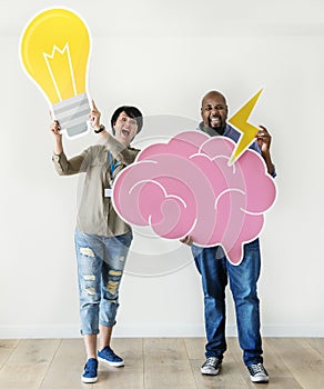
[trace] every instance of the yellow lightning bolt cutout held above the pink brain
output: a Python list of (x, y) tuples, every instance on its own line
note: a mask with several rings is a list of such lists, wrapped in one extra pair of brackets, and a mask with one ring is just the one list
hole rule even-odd
[(261, 92), (262, 89), (260, 89), (260, 91), (253, 96), (252, 99), (250, 99), (231, 119), (229, 119), (229, 122), (236, 127), (240, 132), (242, 132), (242, 136), (240, 137), (239, 142), (232, 153), (230, 166), (242, 156), (242, 153), (254, 141), (256, 133), (260, 131), (257, 127), (250, 124), (247, 120)]

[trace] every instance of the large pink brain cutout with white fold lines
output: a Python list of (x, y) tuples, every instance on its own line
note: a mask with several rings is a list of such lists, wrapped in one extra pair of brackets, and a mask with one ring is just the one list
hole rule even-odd
[(231, 263), (240, 265), (243, 245), (264, 226), (276, 187), (253, 150), (229, 166), (234, 147), (229, 138), (199, 131), (146, 147), (114, 182), (117, 212), (163, 238), (190, 235), (196, 246), (221, 245)]

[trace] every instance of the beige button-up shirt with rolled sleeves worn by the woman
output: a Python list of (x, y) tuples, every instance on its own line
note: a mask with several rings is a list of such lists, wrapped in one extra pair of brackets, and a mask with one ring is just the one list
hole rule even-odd
[(103, 144), (91, 146), (81, 154), (68, 159), (64, 152), (53, 154), (52, 160), (60, 176), (84, 172), (81, 198), (78, 196), (77, 228), (84, 233), (112, 237), (131, 230), (115, 212), (111, 198), (104, 197), (104, 189), (110, 188), (109, 152), (118, 166), (113, 178), (128, 164), (132, 163), (140, 150), (124, 148), (112, 136)]

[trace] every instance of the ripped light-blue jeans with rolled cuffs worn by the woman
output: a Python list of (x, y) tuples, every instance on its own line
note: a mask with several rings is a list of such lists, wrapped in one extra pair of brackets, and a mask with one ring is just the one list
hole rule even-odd
[(75, 230), (82, 335), (99, 333), (99, 325), (115, 325), (119, 286), (132, 238), (132, 232), (99, 237)]

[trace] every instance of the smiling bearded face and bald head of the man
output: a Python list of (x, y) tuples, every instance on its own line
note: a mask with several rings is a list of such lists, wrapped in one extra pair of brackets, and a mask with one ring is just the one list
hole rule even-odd
[(220, 92), (209, 92), (202, 100), (201, 116), (204, 126), (224, 133), (227, 119), (226, 100)]

